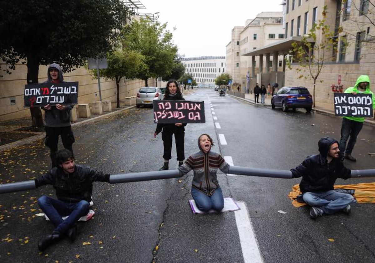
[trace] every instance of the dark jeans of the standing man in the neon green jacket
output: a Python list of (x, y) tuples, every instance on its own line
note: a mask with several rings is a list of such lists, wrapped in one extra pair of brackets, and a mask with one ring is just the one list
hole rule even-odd
[[(348, 154), (348, 155), (351, 154), (351, 152), (353, 151), (354, 145), (356, 144), (357, 136), (362, 129), (362, 126), (363, 126), (363, 122), (351, 121), (345, 118), (342, 119), (341, 139), (340, 139), (340, 144), (339, 144), (340, 157), (344, 156), (344, 152), (345, 154)], [(345, 150), (349, 136), (350, 136), (350, 139), (348, 142), (348, 147)]]

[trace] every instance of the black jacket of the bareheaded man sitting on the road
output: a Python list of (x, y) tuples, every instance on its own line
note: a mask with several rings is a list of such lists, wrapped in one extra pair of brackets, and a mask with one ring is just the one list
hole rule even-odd
[(61, 167), (54, 167), (35, 179), (35, 186), (51, 184), (56, 189), (57, 199), (67, 203), (81, 200), (91, 201), (93, 182), (110, 181), (110, 174), (97, 172), (89, 166), (75, 165), (74, 172), (65, 174)]

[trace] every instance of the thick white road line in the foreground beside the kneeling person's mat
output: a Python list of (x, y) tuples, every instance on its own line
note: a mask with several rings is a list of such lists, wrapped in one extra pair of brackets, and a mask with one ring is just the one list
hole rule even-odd
[(251, 226), (246, 204), (244, 202), (237, 202), (237, 204), (240, 207), (240, 210), (234, 211), (234, 215), (236, 216), (236, 224), (240, 236), (243, 260), (245, 263), (263, 263), (257, 244), (257, 239), (255, 239), (253, 228)]

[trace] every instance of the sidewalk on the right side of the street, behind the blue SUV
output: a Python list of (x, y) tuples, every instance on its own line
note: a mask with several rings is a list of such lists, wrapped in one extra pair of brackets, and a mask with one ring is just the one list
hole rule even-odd
[[(228, 95), (228, 96), (231, 96), (233, 98), (237, 98), (237, 99), (242, 100), (242, 101), (246, 101), (246, 102), (248, 102), (250, 104), (253, 104), (253, 105), (271, 107), (271, 98), (272, 98), (272, 96), (269, 96), (269, 95), (266, 96), (266, 98), (264, 100), (264, 104), (255, 103), (255, 101), (254, 101), (254, 94), (245, 94), (245, 99), (239, 98), (239, 97), (235, 97), (235, 96), (232, 96), (232, 95)], [(259, 95), (259, 101), (261, 101), (260, 95)], [(331, 104), (331, 103), (315, 102), (315, 106), (316, 107), (312, 108), (313, 112), (315, 111), (315, 112), (320, 113), (320, 114), (324, 114), (324, 115), (328, 115), (328, 116), (335, 116), (335, 111), (334, 111), (333, 104)], [(297, 109), (297, 110), (299, 110), (299, 109)], [(300, 110), (303, 110), (303, 109), (300, 109)], [(336, 116), (336, 118), (341, 118), (341, 117)], [(365, 122), (363, 124), (369, 125), (369, 126), (375, 126), (375, 119), (366, 118)]]

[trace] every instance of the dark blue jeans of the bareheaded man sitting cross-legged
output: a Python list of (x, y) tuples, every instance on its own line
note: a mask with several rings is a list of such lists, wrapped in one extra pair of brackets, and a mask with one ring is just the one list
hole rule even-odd
[[(38, 199), (39, 207), (48, 216), (49, 220), (54, 224), (54, 232), (60, 234), (66, 233), (81, 216), (89, 213), (89, 202), (82, 200), (78, 203), (66, 203), (60, 200), (50, 198), (48, 196), (40, 196)], [(63, 220), (63, 216), (69, 216)]]

